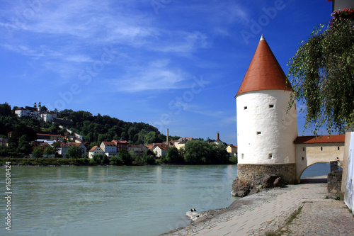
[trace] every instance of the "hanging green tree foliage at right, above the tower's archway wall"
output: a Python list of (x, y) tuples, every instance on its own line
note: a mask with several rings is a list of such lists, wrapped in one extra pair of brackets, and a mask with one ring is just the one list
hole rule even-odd
[(323, 125), (329, 133), (354, 125), (353, 15), (353, 9), (333, 13), (288, 62), (290, 106), (296, 99), (304, 103), (305, 128), (314, 125), (314, 134)]

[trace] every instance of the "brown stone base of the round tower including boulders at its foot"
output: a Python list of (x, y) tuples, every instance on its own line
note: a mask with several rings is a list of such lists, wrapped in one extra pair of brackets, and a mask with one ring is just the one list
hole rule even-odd
[(297, 184), (296, 164), (237, 164), (232, 196), (247, 196), (260, 189)]

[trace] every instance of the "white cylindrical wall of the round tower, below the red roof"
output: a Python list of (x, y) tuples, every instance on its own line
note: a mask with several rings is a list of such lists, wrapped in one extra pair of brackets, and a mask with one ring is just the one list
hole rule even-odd
[(236, 96), (239, 164), (295, 163), (296, 104), (290, 91), (250, 91)]

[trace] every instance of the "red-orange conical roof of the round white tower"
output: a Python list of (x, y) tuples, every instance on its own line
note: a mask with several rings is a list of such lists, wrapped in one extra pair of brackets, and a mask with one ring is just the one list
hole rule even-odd
[(292, 91), (282, 67), (262, 35), (236, 96), (249, 91), (266, 89)]

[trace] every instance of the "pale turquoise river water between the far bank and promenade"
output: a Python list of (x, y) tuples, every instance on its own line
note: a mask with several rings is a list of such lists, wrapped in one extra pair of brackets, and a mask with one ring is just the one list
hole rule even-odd
[(3, 218), (0, 235), (159, 235), (188, 225), (190, 208), (229, 206), (235, 177), (236, 165), (12, 167), (11, 232)]

